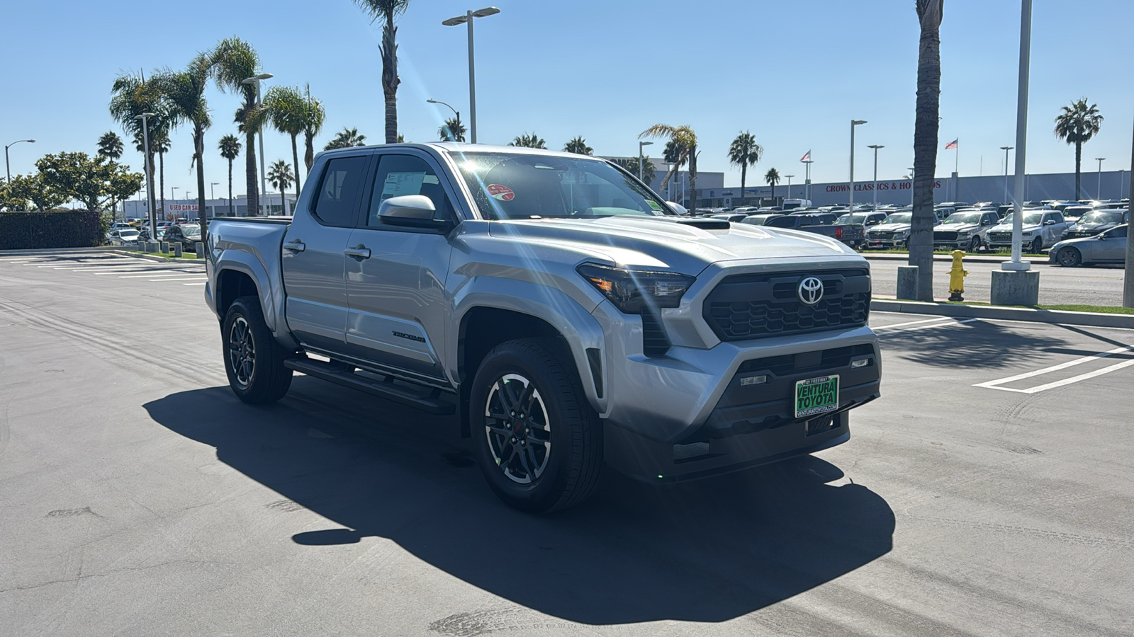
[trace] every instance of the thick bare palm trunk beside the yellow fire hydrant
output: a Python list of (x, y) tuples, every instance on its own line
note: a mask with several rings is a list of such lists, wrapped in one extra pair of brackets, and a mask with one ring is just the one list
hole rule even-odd
[(933, 179), (941, 110), (941, 12), (945, 0), (917, 0), (917, 102), (914, 119), (914, 212), (909, 265), (917, 266), (917, 300), (933, 300)]

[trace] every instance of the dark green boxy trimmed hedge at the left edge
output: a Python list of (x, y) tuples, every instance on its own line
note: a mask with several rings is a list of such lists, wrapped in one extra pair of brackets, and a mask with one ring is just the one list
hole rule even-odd
[(100, 213), (0, 212), (0, 249), (83, 248), (103, 243)]

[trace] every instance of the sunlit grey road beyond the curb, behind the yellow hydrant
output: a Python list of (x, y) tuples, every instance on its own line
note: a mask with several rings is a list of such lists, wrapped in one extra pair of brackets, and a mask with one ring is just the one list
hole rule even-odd
[[(864, 256), (870, 256), (866, 253)], [(890, 258), (870, 260), (874, 294), (894, 296), (898, 287), (898, 266), (907, 261)], [(948, 261), (933, 262), (933, 297), (949, 297)], [(1123, 267), (1120, 265), (1094, 265), (1091, 267), (1063, 267), (1046, 261), (1032, 261), (1032, 269), (1040, 273), (1040, 305), (1122, 305)], [(965, 278), (965, 300), (988, 303), (992, 287), (993, 270), (999, 263), (965, 262), (968, 277)]]

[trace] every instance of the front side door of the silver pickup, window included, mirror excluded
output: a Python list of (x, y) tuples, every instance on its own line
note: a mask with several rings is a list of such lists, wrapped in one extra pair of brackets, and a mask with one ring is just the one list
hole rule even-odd
[[(455, 184), (429, 153), (401, 148), (374, 155), (370, 189), (346, 260), (349, 355), (415, 380), (443, 383), (445, 283), (450, 230), (460, 216)], [(390, 197), (424, 195), (443, 229), (388, 224), (379, 206)]]

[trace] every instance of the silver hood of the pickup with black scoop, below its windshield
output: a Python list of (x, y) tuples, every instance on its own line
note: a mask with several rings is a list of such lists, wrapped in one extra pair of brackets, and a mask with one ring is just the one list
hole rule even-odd
[(840, 241), (750, 223), (703, 229), (662, 216), (492, 221), (489, 233), (525, 244), (555, 245), (625, 266), (697, 274), (709, 264), (777, 257), (856, 255)]

